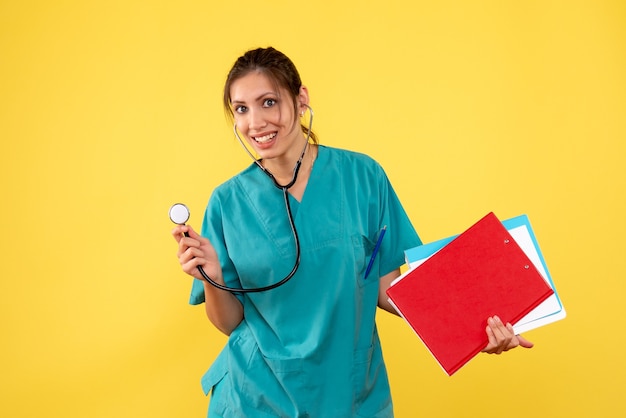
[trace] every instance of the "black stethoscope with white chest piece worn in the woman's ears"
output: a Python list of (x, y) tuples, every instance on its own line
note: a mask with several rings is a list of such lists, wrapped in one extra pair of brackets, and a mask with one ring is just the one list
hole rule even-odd
[[(235, 137), (237, 137), (237, 140), (239, 141), (241, 146), (246, 150), (248, 155), (252, 158), (255, 164), (261, 169), (261, 171), (263, 171), (272, 180), (274, 185), (283, 191), (283, 197), (285, 200), (285, 208), (287, 209), (287, 217), (289, 219), (289, 226), (291, 227), (291, 232), (293, 234), (293, 239), (294, 239), (294, 243), (296, 246), (296, 261), (294, 262), (293, 268), (291, 269), (289, 274), (286, 275), (283, 279), (269, 286), (239, 289), (236, 287), (229, 287), (229, 286), (225, 286), (223, 284), (217, 283), (215, 280), (211, 279), (208, 276), (208, 274), (206, 274), (202, 266), (198, 266), (198, 271), (200, 272), (200, 275), (202, 276), (202, 278), (206, 280), (207, 282), (209, 282), (211, 285), (217, 287), (218, 289), (225, 290), (227, 292), (232, 292), (232, 293), (265, 292), (267, 290), (275, 289), (287, 283), (296, 274), (296, 271), (298, 271), (298, 267), (300, 267), (300, 238), (298, 237), (296, 224), (293, 220), (293, 214), (291, 212), (291, 205), (289, 203), (288, 190), (291, 186), (293, 186), (296, 183), (296, 180), (298, 179), (298, 172), (300, 171), (300, 166), (302, 165), (302, 159), (304, 158), (304, 153), (306, 152), (307, 146), (309, 145), (309, 139), (311, 137), (311, 128), (313, 127), (313, 109), (311, 109), (311, 106), (309, 105), (305, 105), (305, 106), (309, 109), (309, 113), (310, 113), (306, 141), (304, 142), (304, 147), (302, 148), (302, 152), (300, 153), (300, 158), (298, 158), (298, 161), (296, 162), (296, 165), (293, 168), (293, 176), (291, 177), (291, 181), (284, 185), (278, 183), (278, 180), (276, 180), (274, 175), (267, 168), (263, 167), (263, 165), (261, 164), (261, 161), (257, 159), (252, 154), (252, 152), (250, 152), (246, 144), (243, 142), (243, 140), (239, 136), (239, 132), (237, 131), (237, 122), (233, 124), (233, 132), (235, 133)], [(172, 222), (174, 222), (177, 225), (184, 225), (189, 220), (190, 212), (186, 205), (182, 203), (176, 203), (170, 208), (169, 215), (170, 215), (170, 219), (172, 220)], [(189, 234), (185, 232), (185, 236), (188, 237)]]

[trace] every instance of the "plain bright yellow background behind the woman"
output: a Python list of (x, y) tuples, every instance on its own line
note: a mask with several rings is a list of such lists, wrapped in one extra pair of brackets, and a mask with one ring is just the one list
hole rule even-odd
[[(273, 45), (321, 142), (386, 168), (424, 241), (526, 213), (568, 317), (447, 377), (381, 314), (398, 417), (626, 408), (626, 3), (0, 3), (0, 416), (200, 417), (225, 342), (169, 236), (247, 164), (220, 104)], [(462, 336), (459, 336), (462, 338)]]

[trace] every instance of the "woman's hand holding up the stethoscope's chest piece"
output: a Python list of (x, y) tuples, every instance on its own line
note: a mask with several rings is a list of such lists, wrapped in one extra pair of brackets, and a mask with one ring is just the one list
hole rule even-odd
[[(188, 236), (185, 236), (185, 233)], [(204, 238), (189, 225), (176, 225), (172, 236), (178, 242), (176, 253), (183, 271), (197, 279), (202, 279), (198, 266), (202, 266), (205, 273), (213, 280), (222, 281), (222, 268), (217, 258), (215, 248), (208, 239)]]

